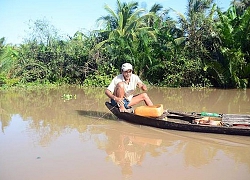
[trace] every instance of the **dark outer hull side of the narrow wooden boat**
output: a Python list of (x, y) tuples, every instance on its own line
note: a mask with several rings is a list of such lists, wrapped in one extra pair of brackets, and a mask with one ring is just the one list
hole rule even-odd
[[(173, 116), (173, 118), (184, 120), (183, 122), (180, 121), (174, 122), (174, 120), (168, 121), (157, 118), (139, 116), (133, 113), (120, 112), (117, 107), (112, 106), (109, 102), (106, 102), (105, 105), (117, 118), (133, 124), (151, 126), (161, 129), (179, 130), (179, 131), (250, 136), (249, 127), (225, 127), (225, 126), (192, 124), (191, 123), (192, 117), (182, 117), (182, 116), (179, 117)], [(168, 116), (168, 118), (169, 117), (171, 116)]]

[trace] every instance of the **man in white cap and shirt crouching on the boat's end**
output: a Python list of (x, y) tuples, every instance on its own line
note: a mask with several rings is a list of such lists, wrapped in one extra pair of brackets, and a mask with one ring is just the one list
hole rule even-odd
[(105, 94), (111, 99), (113, 106), (118, 105), (120, 112), (127, 112), (131, 106), (144, 101), (147, 106), (153, 106), (147, 93), (143, 92), (133, 95), (136, 87), (143, 91), (147, 90), (139, 76), (133, 74), (133, 67), (130, 63), (124, 63), (121, 67), (121, 74), (116, 76), (105, 90)]

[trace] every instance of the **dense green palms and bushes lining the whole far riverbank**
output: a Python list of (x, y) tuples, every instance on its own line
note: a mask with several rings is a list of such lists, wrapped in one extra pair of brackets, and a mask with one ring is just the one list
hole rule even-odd
[[(46, 20), (21, 45), (0, 39), (0, 87), (30, 84), (107, 86), (130, 62), (156, 86), (250, 87), (250, 1), (222, 12), (213, 0), (188, 0), (183, 15), (138, 2), (105, 5), (101, 30), (63, 39)], [(175, 19), (169, 12), (176, 13)]]

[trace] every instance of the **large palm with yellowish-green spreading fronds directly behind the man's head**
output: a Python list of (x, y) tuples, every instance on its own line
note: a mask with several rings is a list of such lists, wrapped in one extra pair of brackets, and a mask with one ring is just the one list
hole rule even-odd
[[(96, 47), (103, 47), (111, 58), (110, 62), (116, 67), (120, 67), (124, 61), (128, 61), (133, 63), (137, 73), (140, 73), (141, 70), (137, 68), (141, 64), (140, 53), (145, 52), (144, 43), (147, 44), (147, 38), (149, 36), (154, 38), (153, 29), (148, 27), (144, 21), (151, 15), (143, 15), (145, 10), (139, 8), (137, 2), (121, 3), (117, 0), (116, 11), (108, 5), (105, 5), (104, 8), (109, 15), (98, 19), (98, 21), (104, 21), (105, 24), (105, 30), (99, 33), (107, 38), (100, 38), (101, 42)], [(149, 58), (147, 59), (149, 60)]]

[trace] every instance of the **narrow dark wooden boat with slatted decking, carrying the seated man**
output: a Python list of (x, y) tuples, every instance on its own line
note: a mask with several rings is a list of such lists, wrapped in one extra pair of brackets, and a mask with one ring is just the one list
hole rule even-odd
[(211, 125), (197, 123), (203, 118), (199, 113), (164, 111), (161, 117), (153, 118), (120, 112), (109, 102), (105, 105), (117, 118), (133, 124), (180, 131), (250, 136), (250, 115), (220, 114), (221, 124)]

